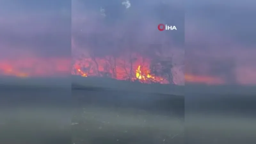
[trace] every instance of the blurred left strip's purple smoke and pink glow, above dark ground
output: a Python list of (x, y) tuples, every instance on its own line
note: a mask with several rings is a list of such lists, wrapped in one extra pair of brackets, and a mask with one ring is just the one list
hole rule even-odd
[(0, 75), (70, 74), (70, 4), (61, 2), (0, 2)]

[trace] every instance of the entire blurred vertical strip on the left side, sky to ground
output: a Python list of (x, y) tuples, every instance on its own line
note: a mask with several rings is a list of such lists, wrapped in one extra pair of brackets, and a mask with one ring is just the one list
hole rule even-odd
[(0, 143), (70, 144), (70, 0), (1, 0), (0, 13)]

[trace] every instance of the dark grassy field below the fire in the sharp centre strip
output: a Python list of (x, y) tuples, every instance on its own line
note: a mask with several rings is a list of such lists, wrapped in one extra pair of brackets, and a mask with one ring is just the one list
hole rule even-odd
[(183, 144), (184, 97), (73, 89), (75, 144)]

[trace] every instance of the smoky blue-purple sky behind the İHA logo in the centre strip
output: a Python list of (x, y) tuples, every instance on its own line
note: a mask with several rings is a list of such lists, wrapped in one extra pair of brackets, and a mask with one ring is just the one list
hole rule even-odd
[[(76, 45), (90, 47), (99, 55), (122, 52), (128, 47), (135, 51), (155, 44), (166, 48), (180, 45), (182, 49), (184, 11), (181, 6), (129, 1), (131, 7), (126, 8), (122, 2), (72, 1), (72, 37)], [(175, 25), (178, 30), (160, 32), (157, 29), (160, 23)]]

